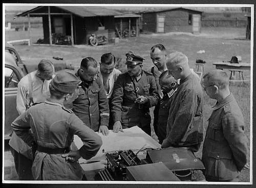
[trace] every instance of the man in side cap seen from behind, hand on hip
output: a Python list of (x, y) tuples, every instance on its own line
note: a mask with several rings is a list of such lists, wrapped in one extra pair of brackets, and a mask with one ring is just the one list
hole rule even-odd
[[(37, 145), (32, 165), (35, 180), (81, 180), (78, 158), (90, 159), (102, 145), (101, 138), (63, 106), (77, 97), (78, 84), (78, 77), (71, 72), (57, 72), (49, 86), (50, 98), (32, 106), (11, 125), (29, 146)], [(84, 145), (70, 151), (74, 135)]]

